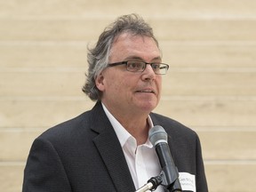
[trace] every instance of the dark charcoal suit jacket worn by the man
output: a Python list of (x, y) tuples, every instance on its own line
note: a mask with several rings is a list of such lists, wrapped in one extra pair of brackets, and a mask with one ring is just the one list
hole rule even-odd
[[(196, 132), (154, 113), (165, 128), (179, 172), (196, 175), (196, 191), (206, 192), (201, 146)], [(148, 178), (149, 179), (149, 178)], [(92, 110), (44, 132), (34, 141), (24, 171), (23, 192), (132, 192), (132, 176), (119, 140), (100, 102)]]

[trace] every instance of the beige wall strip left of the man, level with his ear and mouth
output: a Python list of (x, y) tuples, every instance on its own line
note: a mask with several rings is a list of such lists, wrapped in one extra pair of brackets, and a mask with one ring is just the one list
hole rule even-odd
[[(51, 70), (51, 69), (50, 69)], [(68, 70), (68, 69), (67, 69)], [(39, 70), (40, 71), (40, 70)], [(44, 71), (44, 68), (41, 69)], [(14, 72), (1, 74), (1, 96), (83, 96), (85, 68), (81, 72)]]

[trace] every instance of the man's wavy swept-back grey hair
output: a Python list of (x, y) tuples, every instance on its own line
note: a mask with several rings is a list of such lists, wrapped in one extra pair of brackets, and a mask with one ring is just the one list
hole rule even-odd
[(152, 28), (139, 15), (133, 13), (117, 18), (114, 23), (110, 24), (101, 33), (95, 48), (88, 48), (87, 61), (89, 68), (86, 74), (87, 79), (83, 86), (83, 92), (91, 100), (101, 99), (101, 92), (95, 84), (95, 79), (104, 68), (108, 68), (108, 58), (112, 44), (116, 37), (124, 33), (152, 37), (158, 46)]

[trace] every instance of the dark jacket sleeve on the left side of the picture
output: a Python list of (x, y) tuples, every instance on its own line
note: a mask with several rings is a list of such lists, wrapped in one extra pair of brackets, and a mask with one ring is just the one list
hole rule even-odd
[(36, 139), (24, 171), (22, 192), (71, 192), (67, 174), (52, 143)]

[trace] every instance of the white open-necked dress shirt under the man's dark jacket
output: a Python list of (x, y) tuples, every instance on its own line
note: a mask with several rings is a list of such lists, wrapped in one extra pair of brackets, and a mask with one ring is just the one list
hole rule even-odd
[[(137, 146), (135, 138), (110, 114), (108, 108), (106, 108), (103, 103), (102, 106), (123, 148), (135, 188), (141, 188), (151, 177), (156, 177), (161, 172), (161, 166), (155, 148), (153, 148), (149, 140)], [(148, 116), (148, 124), (150, 128), (154, 126), (150, 116)], [(156, 188), (156, 192), (161, 191), (164, 191), (161, 186)]]

